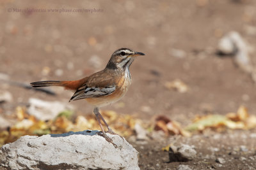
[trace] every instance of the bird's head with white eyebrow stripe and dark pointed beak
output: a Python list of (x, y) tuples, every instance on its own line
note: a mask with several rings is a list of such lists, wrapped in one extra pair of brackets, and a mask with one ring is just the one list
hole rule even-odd
[(106, 67), (109, 69), (129, 68), (134, 57), (138, 55), (145, 55), (145, 53), (134, 52), (129, 48), (120, 48), (112, 54)]

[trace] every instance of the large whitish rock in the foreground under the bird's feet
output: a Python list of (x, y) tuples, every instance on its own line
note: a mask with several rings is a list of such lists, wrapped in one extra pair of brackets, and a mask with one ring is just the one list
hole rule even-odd
[(138, 152), (118, 135), (99, 131), (22, 136), (0, 150), (0, 169), (140, 169)]

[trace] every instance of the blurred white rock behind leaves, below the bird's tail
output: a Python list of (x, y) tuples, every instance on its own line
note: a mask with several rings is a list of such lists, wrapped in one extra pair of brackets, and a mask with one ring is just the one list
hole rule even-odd
[(34, 115), (40, 120), (50, 120), (56, 117), (63, 110), (72, 110), (73, 106), (58, 101), (42, 101), (40, 99), (29, 99), (29, 115)]

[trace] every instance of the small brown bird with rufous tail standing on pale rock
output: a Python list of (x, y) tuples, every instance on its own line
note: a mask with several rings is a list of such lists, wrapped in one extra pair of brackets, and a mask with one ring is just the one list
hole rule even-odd
[[(100, 135), (116, 147), (115, 143), (107, 136), (106, 132), (110, 134), (116, 133), (113, 132), (106, 120), (104, 120), (99, 112), (99, 108), (115, 103), (124, 97), (131, 85), (129, 67), (135, 57), (139, 55), (145, 55), (145, 53), (135, 52), (129, 48), (120, 48), (111, 55), (108, 64), (102, 71), (93, 73), (90, 76), (72, 81), (36, 81), (30, 83), (30, 85), (36, 88), (59, 86), (68, 90), (75, 90), (74, 95), (69, 101), (85, 99), (89, 104), (92, 104), (94, 106), (93, 113), (100, 125)], [(104, 131), (100, 120), (104, 122), (108, 131)]]

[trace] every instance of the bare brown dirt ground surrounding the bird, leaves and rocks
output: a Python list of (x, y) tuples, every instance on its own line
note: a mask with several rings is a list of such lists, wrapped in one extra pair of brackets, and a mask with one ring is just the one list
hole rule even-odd
[[(19, 12), (26, 8), (100, 11)], [(136, 114), (145, 122), (154, 115), (166, 115), (183, 126), (195, 115), (225, 115), (236, 112), (242, 104), (250, 114), (256, 114), (256, 86), (251, 77), (232, 57), (216, 55), (218, 41), (230, 31), (239, 32), (255, 49), (256, 1), (4, 0), (0, 14), (0, 73), (8, 74), (9, 80), (76, 80), (104, 68), (116, 49), (129, 47), (146, 55), (130, 67), (132, 85), (126, 96), (104, 110)], [(251, 57), (256, 64), (253, 53)], [(188, 85), (188, 92), (164, 87), (166, 81), (177, 78)], [(0, 105), (0, 114), (25, 106), (30, 97), (68, 103), (72, 96), (72, 92), (58, 88), (52, 88), (57, 96), (6, 83), (0, 88), (13, 96), (12, 103)], [(71, 104), (79, 114), (93, 110), (84, 101)], [(255, 129), (175, 138), (129, 141), (140, 152), (141, 169), (175, 169), (180, 164), (191, 169), (256, 169)], [(161, 148), (173, 141), (194, 145), (196, 159), (168, 162), (168, 153)], [(218, 157), (225, 163), (217, 163)]]

